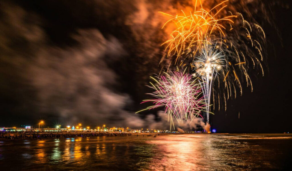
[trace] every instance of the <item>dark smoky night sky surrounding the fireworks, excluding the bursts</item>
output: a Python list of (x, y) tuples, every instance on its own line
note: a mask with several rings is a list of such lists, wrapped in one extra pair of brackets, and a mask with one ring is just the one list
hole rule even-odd
[[(253, 76), (253, 92), (244, 88), (241, 97), (227, 101), (226, 112), (215, 110), (211, 125), (218, 132), (292, 132), (291, 5), (231, 2), (265, 30), (265, 76)], [(187, 0), (1, 1), (0, 126), (35, 126), (44, 119), (46, 126), (167, 129), (158, 111), (135, 112), (145, 108), (140, 102), (151, 91), (145, 86), (149, 76), (161, 69), (160, 44), (167, 34), (157, 11), (189, 5)]]

